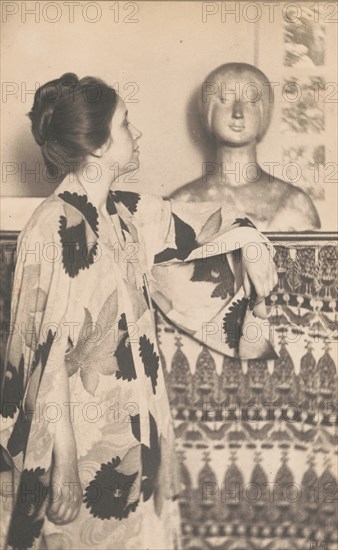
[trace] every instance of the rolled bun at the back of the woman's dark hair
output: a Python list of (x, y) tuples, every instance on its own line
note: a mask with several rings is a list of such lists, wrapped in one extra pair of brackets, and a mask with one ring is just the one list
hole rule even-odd
[(69, 95), (69, 87), (76, 86), (79, 79), (75, 73), (65, 73), (60, 78), (40, 86), (35, 92), (32, 110), (28, 116), (32, 122), (32, 133), (40, 147), (51, 135), (51, 122), (59, 101)]

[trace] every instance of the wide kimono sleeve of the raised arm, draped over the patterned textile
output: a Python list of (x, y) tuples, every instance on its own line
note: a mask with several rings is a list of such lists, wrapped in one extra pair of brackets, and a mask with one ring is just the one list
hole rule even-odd
[(251, 220), (226, 203), (159, 199), (148, 223), (150, 290), (164, 315), (223, 354), (276, 358), (268, 322), (254, 316), (244, 296), (243, 249), (258, 261), (257, 244), (264, 243), (273, 261), (270, 241)]

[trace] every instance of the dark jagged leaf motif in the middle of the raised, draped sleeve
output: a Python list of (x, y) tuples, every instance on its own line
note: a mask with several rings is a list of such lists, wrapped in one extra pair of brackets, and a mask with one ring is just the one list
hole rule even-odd
[(206, 281), (214, 283), (212, 298), (225, 300), (233, 296), (235, 292), (235, 278), (230, 269), (226, 254), (210, 256), (200, 260), (194, 260), (194, 271), (190, 277), (191, 281)]

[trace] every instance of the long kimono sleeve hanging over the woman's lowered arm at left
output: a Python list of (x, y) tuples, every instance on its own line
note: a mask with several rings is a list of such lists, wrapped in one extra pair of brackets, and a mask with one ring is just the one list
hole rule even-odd
[(59, 207), (42, 205), (19, 235), (2, 384), (1, 446), (18, 470), (48, 469), (56, 421), (69, 401), (64, 356), (70, 278), (62, 267)]

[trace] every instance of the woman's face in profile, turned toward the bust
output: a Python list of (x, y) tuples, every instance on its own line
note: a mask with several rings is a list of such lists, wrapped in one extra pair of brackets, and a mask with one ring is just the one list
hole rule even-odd
[(128, 120), (128, 110), (119, 97), (111, 123), (111, 139), (104, 150), (103, 159), (116, 177), (139, 167), (137, 141), (142, 133)]

